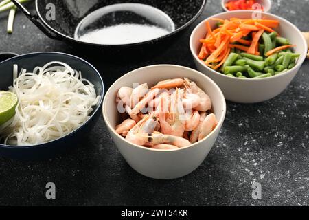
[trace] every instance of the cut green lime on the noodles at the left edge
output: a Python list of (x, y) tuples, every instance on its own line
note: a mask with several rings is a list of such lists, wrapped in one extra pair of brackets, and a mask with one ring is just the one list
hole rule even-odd
[(15, 115), (18, 98), (10, 91), (0, 91), (0, 125), (8, 122)]

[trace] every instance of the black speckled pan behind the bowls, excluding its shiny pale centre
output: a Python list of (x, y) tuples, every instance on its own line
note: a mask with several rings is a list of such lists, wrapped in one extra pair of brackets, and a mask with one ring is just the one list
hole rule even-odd
[[(87, 48), (89, 46), (100, 48), (108, 55), (111, 52), (124, 52), (124, 50), (130, 51), (130, 54), (136, 49), (141, 52), (141, 45), (143, 45), (144, 49), (150, 45), (157, 47), (159, 43), (164, 43), (165, 40), (170, 39), (170, 36), (173, 36), (193, 23), (203, 12), (206, 4), (206, 0), (36, 0), (36, 14), (31, 14), (18, 1), (12, 1), (25, 13), (28, 19), (50, 38), (78, 45), (86, 45)], [(56, 19), (49, 21), (46, 14), (50, 9), (47, 5), (50, 3), (55, 5)], [(84, 17), (87, 17), (91, 12), (106, 5), (116, 3), (143, 3), (158, 8), (165, 12), (165, 14), (168, 14), (170, 19), (174, 21), (175, 30), (170, 34), (150, 41), (121, 45), (86, 43), (74, 38), (76, 27)]]

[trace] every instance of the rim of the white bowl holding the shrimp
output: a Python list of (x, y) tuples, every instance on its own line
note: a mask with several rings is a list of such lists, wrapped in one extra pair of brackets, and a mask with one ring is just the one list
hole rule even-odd
[[(131, 142), (128, 142), (128, 140), (126, 140), (124, 137), (121, 137), (118, 133), (115, 132), (115, 128), (113, 128), (113, 126), (111, 126), (108, 118), (106, 117), (107, 113), (107, 108), (105, 107), (106, 106), (106, 99), (108, 97), (108, 95), (111, 93), (111, 89), (113, 87), (116, 87), (117, 86), (117, 83), (120, 81), (120, 80), (124, 80), (126, 77), (128, 77), (129, 75), (133, 75), (135, 74), (135, 72), (139, 72), (141, 70), (144, 70), (144, 69), (152, 69), (152, 68), (157, 68), (157, 67), (176, 67), (176, 68), (179, 68), (179, 69), (185, 69), (187, 70), (188, 72), (190, 71), (192, 74), (197, 74), (203, 78), (205, 78), (205, 80), (208, 80), (209, 83), (213, 84), (216, 89), (218, 90), (218, 93), (220, 95), (220, 99), (222, 100), (222, 116), (220, 117), (220, 120), (218, 120), (218, 125), (216, 126), (216, 129), (214, 129), (214, 131), (211, 131), (211, 133), (209, 133), (209, 135), (207, 135), (207, 137), (205, 137), (203, 140), (201, 141), (198, 141), (194, 144), (191, 144), (190, 146), (185, 146), (183, 148), (178, 148), (178, 149), (172, 149), (172, 150), (159, 150), (159, 149), (152, 149), (152, 148), (147, 148), (147, 147), (144, 147), (144, 146), (139, 146), (137, 144), (133, 144)], [(168, 78), (168, 77), (167, 77)], [(214, 80), (211, 80), (211, 78), (209, 78), (208, 76), (205, 76), (205, 74), (202, 74), (201, 72), (198, 72), (196, 69), (192, 69), (192, 68), (189, 68), (189, 67), (184, 67), (184, 66), (181, 66), (181, 65), (170, 65), (170, 64), (159, 64), (159, 65), (148, 65), (146, 67), (140, 67), (138, 69), (134, 69), (130, 72), (128, 72), (127, 74), (124, 74), (124, 76), (122, 76), (121, 78), (119, 78), (118, 80), (115, 81), (115, 83), (113, 83), (113, 85), (111, 85), (111, 87), (108, 89), (108, 91), (106, 91), (106, 94), (105, 94), (105, 97), (104, 97), (104, 100), (103, 100), (103, 104), (102, 104), (102, 113), (103, 113), (103, 118), (104, 118), (104, 122), (106, 124), (106, 126), (108, 127), (108, 129), (113, 132), (113, 134), (121, 139), (122, 141), (126, 142), (129, 146), (133, 146), (135, 148), (140, 148), (140, 149), (144, 149), (145, 151), (152, 151), (152, 152), (159, 152), (159, 153), (162, 153), (162, 152), (175, 152), (175, 151), (184, 151), (186, 150), (187, 148), (192, 148), (192, 147), (196, 147), (198, 146), (198, 144), (201, 144), (201, 142), (205, 142), (205, 140), (209, 139), (209, 137), (213, 136), (214, 133), (216, 133), (216, 131), (220, 131), (220, 128), (225, 120), (225, 116), (226, 116), (226, 112), (227, 112), (227, 104), (226, 104), (226, 101), (225, 101), (225, 96), (223, 95), (220, 87), (214, 82)]]

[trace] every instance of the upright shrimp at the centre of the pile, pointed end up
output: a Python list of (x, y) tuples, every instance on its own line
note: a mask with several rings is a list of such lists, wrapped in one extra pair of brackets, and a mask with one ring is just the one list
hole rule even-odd
[[(166, 135), (183, 137), (183, 133), (185, 132), (185, 121), (180, 119), (181, 113), (179, 112), (179, 109), (182, 107), (182, 105), (181, 107), (179, 106), (179, 89), (176, 89), (171, 98), (172, 105), (170, 108), (170, 113), (168, 111), (167, 101), (164, 98), (161, 98), (161, 108), (159, 112), (161, 132)], [(166, 117), (166, 115), (168, 115), (168, 117)]]

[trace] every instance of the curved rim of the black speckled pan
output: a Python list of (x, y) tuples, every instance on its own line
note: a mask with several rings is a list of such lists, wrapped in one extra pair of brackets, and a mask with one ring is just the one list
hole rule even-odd
[(52, 30), (54, 33), (58, 34), (58, 36), (61, 36), (63, 39), (65, 40), (69, 40), (69, 41), (73, 41), (75, 43), (82, 43), (83, 45), (92, 45), (92, 46), (102, 46), (102, 47), (130, 47), (130, 46), (138, 46), (138, 45), (144, 45), (147, 43), (153, 43), (156, 41), (160, 41), (162, 39), (168, 38), (174, 34), (176, 34), (177, 32), (180, 32), (181, 30), (187, 28), (189, 25), (191, 25), (194, 21), (196, 21), (196, 19), (198, 19), (198, 17), (203, 13), (205, 6), (206, 6), (207, 0), (203, 0), (203, 3), (201, 4), (201, 8), (198, 10), (198, 12), (194, 15), (194, 17), (192, 17), (192, 19), (190, 19), (190, 21), (187, 21), (187, 23), (185, 23), (184, 25), (182, 25), (181, 27), (177, 28), (176, 30), (174, 30), (173, 32), (170, 32), (169, 34), (165, 34), (163, 36), (160, 36), (159, 38), (156, 39), (151, 39), (148, 41), (142, 41), (139, 43), (128, 43), (128, 44), (116, 44), (116, 45), (108, 45), (108, 44), (100, 44), (100, 43), (89, 43), (89, 42), (85, 42), (85, 41), (78, 41), (76, 40), (74, 37), (71, 36), (67, 36), (65, 34), (62, 34), (61, 32), (59, 32), (58, 30), (54, 29), (51, 25), (49, 25), (45, 19), (43, 19), (42, 14), (40, 13), (40, 11), (38, 10), (38, 0), (36, 0), (36, 12), (38, 14), (38, 17), (41, 19), (41, 21), (43, 22), (44, 25), (46, 25), (47, 28), (49, 28), (49, 30)]

